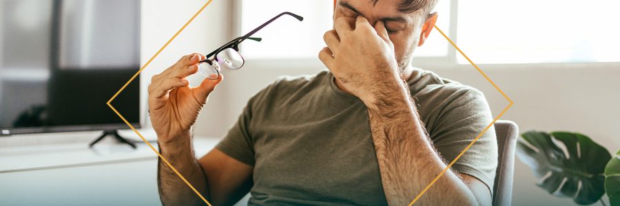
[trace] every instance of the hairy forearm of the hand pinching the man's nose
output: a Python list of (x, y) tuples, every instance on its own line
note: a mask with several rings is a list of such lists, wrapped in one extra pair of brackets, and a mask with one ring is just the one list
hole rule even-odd
[[(409, 91), (386, 93), (366, 106), (387, 201), (389, 205), (408, 205), (446, 164), (426, 135)], [(471, 190), (451, 170), (418, 203), (477, 205)]]

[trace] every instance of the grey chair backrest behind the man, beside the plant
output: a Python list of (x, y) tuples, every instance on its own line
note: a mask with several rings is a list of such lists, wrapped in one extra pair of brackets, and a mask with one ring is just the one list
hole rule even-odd
[(495, 122), (498, 159), (493, 185), (493, 205), (510, 205), (513, 198), (513, 174), (515, 172), (515, 150), (519, 127), (515, 122), (497, 120)]

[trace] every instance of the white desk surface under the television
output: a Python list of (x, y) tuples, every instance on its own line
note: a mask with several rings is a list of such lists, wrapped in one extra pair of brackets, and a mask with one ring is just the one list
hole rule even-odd
[[(218, 141), (196, 137), (196, 156)], [(161, 205), (156, 157), (114, 141), (0, 148), (0, 205)]]

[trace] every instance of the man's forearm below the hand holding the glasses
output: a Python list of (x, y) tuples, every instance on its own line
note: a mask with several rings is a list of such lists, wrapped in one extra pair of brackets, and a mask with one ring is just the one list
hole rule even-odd
[[(194, 156), (191, 137), (182, 137), (172, 143), (160, 144), (159, 147), (161, 155), (204, 196), (207, 181), (203, 169)], [(158, 186), (163, 205), (204, 204), (203, 200), (161, 158), (158, 161)]]

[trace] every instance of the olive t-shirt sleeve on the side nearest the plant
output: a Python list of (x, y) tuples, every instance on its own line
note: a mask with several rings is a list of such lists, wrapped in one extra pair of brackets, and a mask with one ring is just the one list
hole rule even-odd
[[(429, 131), (435, 148), (447, 163), (451, 163), (493, 122), (490, 108), (481, 91), (473, 88), (461, 89), (451, 95), (451, 98), (453, 100), (442, 108), (434, 129)], [(493, 192), (497, 168), (495, 128), (491, 126), (486, 130), (452, 168), (461, 174), (476, 177)]]

